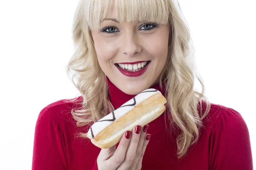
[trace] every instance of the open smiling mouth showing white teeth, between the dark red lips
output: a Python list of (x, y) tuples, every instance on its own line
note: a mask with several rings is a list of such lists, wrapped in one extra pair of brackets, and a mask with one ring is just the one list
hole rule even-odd
[(122, 70), (126, 70), (126, 71), (131, 71), (131, 72), (136, 72), (136, 71), (140, 71), (143, 68), (145, 68), (151, 61), (145, 61), (145, 62), (138, 62), (135, 64), (122, 64), (122, 63), (116, 63), (116, 67), (122, 69)]

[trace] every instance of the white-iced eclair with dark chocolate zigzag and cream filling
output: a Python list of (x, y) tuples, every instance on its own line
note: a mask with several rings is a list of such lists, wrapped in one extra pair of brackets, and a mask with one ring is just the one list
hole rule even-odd
[(99, 148), (112, 147), (127, 130), (131, 131), (137, 125), (143, 127), (157, 119), (165, 111), (166, 102), (160, 91), (147, 89), (95, 122), (87, 137)]

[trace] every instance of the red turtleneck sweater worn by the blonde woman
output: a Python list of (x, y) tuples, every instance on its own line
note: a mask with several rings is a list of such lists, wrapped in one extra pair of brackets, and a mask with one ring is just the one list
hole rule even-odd
[[(108, 80), (108, 79), (107, 79)], [(130, 100), (108, 80), (114, 108)], [(163, 93), (159, 84), (155, 88)], [(81, 101), (80, 96), (76, 101)], [(100, 148), (90, 140), (76, 137), (89, 126), (76, 127), (71, 116), (74, 102), (60, 100), (46, 106), (35, 127), (32, 170), (97, 170)], [(167, 113), (170, 114), (170, 113)], [(187, 155), (177, 159), (176, 135), (168, 135), (165, 115), (150, 122), (151, 139), (143, 157), (142, 170), (252, 170), (252, 154), (247, 126), (232, 108), (212, 104), (203, 120), (200, 137)], [(168, 125), (168, 122), (167, 122)]]

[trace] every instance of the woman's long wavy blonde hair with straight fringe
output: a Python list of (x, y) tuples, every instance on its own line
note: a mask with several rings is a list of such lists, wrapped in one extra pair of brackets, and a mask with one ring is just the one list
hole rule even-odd
[[(168, 59), (160, 76), (166, 80), (170, 124), (181, 130), (177, 137), (177, 157), (181, 158), (189, 146), (198, 141), (199, 128), (209, 113), (210, 103), (204, 96), (204, 84), (194, 65), (192, 40), (177, 0), (80, 0), (73, 23), (76, 51), (67, 65), (67, 73), (83, 96), (81, 108), (72, 110), (76, 125), (92, 124), (114, 110), (90, 33), (90, 29), (100, 29), (100, 22), (113, 7), (121, 23), (147, 20), (170, 27)], [(201, 84), (201, 92), (194, 90), (195, 78)], [(87, 134), (80, 135), (86, 137)]]

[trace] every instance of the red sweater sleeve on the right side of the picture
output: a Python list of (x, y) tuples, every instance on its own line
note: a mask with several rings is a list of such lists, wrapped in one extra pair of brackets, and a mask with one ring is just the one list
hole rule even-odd
[(227, 108), (212, 128), (211, 170), (253, 170), (250, 137), (241, 115)]

